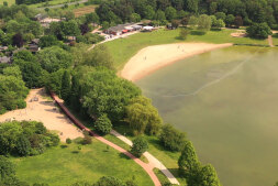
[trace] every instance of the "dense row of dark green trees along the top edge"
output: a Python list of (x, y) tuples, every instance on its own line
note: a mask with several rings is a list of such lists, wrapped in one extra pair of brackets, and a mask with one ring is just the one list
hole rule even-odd
[[(101, 23), (182, 19), (192, 14), (222, 14), (223, 21), (241, 18), (244, 24), (267, 22), (277, 26), (277, 0), (114, 0), (103, 1), (97, 9)], [(229, 18), (230, 17), (230, 18)]]

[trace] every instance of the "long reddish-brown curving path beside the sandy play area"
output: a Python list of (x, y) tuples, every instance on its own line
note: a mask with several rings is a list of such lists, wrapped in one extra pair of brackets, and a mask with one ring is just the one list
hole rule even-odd
[(149, 175), (155, 186), (162, 186), (159, 179), (155, 175), (153, 167), (149, 164), (146, 164), (142, 162), (140, 158), (135, 157), (133, 154), (131, 154), (129, 151), (118, 146), (116, 144), (105, 140), (104, 138), (98, 135), (96, 132), (91, 131), (90, 129), (86, 128), (70, 111), (64, 106), (63, 100), (59, 99), (55, 94), (51, 92), (52, 98), (56, 101), (58, 107), (66, 113), (66, 116), (81, 130), (88, 131), (90, 135), (94, 136), (97, 140), (101, 141), (102, 143), (113, 147), (114, 150), (125, 154), (130, 158), (132, 158), (134, 162), (136, 162), (141, 167), (145, 169), (145, 172)]

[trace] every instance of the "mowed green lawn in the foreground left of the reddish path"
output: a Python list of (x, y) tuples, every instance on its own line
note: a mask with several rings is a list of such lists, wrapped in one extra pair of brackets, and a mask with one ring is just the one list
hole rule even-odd
[(93, 139), (92, 144), (78, 151), (77, 144), (57, 146), (33, 157), (13, 158), (16, 174), (27, 183), (47, 183), (51, 186), (68, 186), (77, 180), (97, 182), (102, 176), (122, 180), (133, 179), (140, 186), (153, 182), (133, 160)]

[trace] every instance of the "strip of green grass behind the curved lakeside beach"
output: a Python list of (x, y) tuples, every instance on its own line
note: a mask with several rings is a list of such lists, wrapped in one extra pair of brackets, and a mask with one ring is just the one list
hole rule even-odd
[(116, 69), (122, 69), (124, 64), (140, 50), (159, 44), (180, 42), (205, 42), (205, 43), (234, 43), (234, 44), (257, 44), (267, 45), (267, 40), (253, 40), (249, 37), (232, 37), (233, 30), (209, 31), (204, 35), (189, 34), (187, 40), (179, 39), (179, 30), (157, 30), (154, 32), (138, 33), (125, 39), (119, 39), (104, 43), (115, 61)]

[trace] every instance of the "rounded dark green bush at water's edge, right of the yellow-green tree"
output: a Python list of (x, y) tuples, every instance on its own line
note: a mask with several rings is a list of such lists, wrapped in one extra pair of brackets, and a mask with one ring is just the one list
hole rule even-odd
[(165, 124), (159, 136), (162, 144), (170, 151), (180, 151), (186, 142), (186, 134), (171, 124)]

